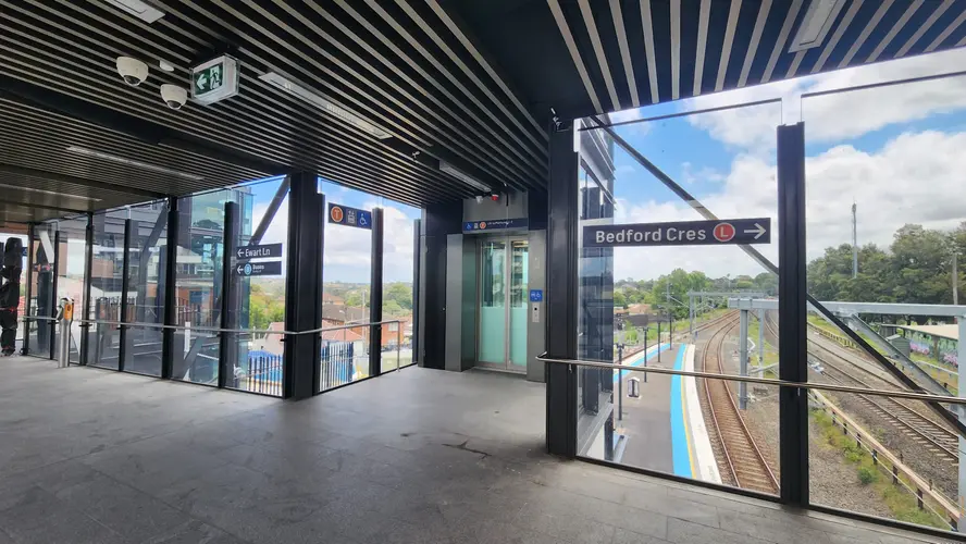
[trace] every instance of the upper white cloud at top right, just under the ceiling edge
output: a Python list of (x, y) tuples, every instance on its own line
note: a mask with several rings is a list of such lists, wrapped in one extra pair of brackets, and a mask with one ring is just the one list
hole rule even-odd
[(689, 116), (716, 139), (744, 149), (775, 147), (781, 122), (805, 121), (809, 143), (835, 143), (894, 123), (922, 120), (933, 113), (966, 108), (966, 76), (917, 82), (877, 89), (810, 97), (804, 92), (841, 89), (879, 82), (953, 72), (966, 65), (966, 49), (912, 57), (840, 70), (797, 79), (746, 87), (684, 100), (690, 111), (781, 98), (764, 104)]

